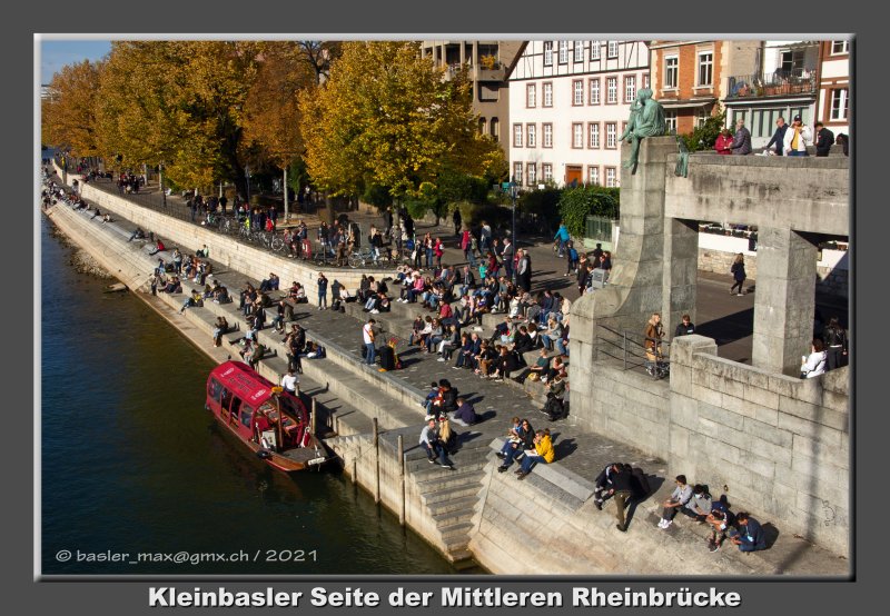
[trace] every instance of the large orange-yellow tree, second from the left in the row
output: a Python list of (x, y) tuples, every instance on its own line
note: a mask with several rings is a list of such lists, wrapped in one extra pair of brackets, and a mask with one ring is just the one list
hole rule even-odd
[(254, 41), (118, 41), (97, 99), (100, 149), (122, 166), (164, 163), (180, 186), (234, 179), (246, 192), (243, 111)]

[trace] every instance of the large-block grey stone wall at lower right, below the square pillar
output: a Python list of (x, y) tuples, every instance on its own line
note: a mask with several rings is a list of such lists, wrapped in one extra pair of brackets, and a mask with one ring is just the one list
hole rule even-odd
[(713, 494), (726, 486), (736, 509), (846, 554), (848, 370), (798, 379), (721, 359), (713, 339), (688, 336), (673, 340), (670, 382), (594, 361), (572, 396), (591, 400), (578, 425), (665, 457), (669, 475)]

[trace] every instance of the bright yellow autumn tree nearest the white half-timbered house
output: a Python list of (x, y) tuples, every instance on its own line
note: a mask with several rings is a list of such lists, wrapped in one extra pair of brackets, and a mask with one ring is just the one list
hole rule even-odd
[(343, 43), (329, 79), (299, 103), (309, 175), (333, 195), (379, 186), (422, 197), (445, 170), (482, 176), (498, 161), (497, 143), (478, 132), (467, 74), (445, 79), (416, 43)]

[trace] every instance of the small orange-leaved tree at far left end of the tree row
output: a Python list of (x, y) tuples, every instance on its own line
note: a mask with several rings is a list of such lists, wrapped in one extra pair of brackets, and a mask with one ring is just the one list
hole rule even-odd
[(70, 150), (73, 156), (98, 156), (96, 99), (101, 62), (83, 60), (56, 73), (49, 97), (41, 101), (42, 142)]

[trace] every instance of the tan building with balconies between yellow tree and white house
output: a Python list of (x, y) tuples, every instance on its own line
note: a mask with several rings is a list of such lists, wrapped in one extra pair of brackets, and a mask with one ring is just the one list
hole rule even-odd
[(446, 78), (462, 66), (473, 82), (473, 110), (479, 132), (494, 137), (506, 153), (510, 148), (510, 97), (506, 76), (522, 41), (422, 41), (421, 56), (446, 67)]

